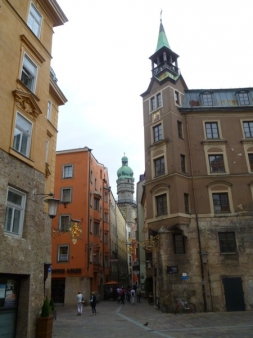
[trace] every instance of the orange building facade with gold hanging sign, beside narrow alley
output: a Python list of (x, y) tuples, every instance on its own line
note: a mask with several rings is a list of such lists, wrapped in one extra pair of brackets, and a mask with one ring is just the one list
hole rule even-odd
[(107, 168), (87, 147), (56, 153), (55, 197), (60, 199), (52, 222), (52, 297), (74, 304), (81, 291), (103, 298), (109, 280), (109, 200)]

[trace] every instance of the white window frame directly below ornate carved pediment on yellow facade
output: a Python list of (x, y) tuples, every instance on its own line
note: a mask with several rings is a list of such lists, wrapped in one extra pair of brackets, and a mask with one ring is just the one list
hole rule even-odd
[[(27, 132), (22, 126), (21, 123), (18, 124), (18, 118), (20, 118), (22, 121), (22, 124), (27, 123), (29, 126), (29, 132)], [(17, 133), (18, 132), (18, 133)], [(14, 135), (13, 135), (13, 149), (17, 151), (19, 154), (29, 158), (30, 152), (31, 152), (31, 144), (32, 144), (32, 132), (33, 132), (33, 123), (27, 119), (24, 115), (22, 115), (19, 111), (16, 112), (16, 121), (15, 121), (15, 127), (14, 127)], [(16, 134), (17, 133), (17, 134)], [(15, 135), (16, 134), (16, 135)], [(21, 135), (21, 142), (17, 139), (17, 136)], [(26, 137), (26, 150), (25, 152), (22, 152), (23, 147), (23, 138)], [(18, 141), (17, 141), (18, 140)], [(18, 143), (16, 146), (15, 144)]]

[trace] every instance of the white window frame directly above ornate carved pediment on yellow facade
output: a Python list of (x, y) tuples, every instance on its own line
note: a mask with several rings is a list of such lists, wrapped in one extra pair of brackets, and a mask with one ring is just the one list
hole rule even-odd
[[(27, 61), (26, 65), (25, 65), (25, 60)], [(30, 69), (28, 69), (29, 68), (27, 66), (28, 64), (29, 64)], [(31, 66), (34, 66), (35, 72), (31, 72)], [(30, 56), (28, 56), (28, 54), (24, 53), (21, 72), (20, 72), (20, 81), (32, 93), (35, 93), (36, 85), (37, 85), (37, 78), (38, 78), (38, 65), (32, 60), (32, 58), (30, 58)], [(30, 81), (30, 83), (26, 83), (26, 81)]]

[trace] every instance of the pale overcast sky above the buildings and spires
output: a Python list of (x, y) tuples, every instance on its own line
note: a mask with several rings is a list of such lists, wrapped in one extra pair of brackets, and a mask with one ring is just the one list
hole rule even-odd
[(135, 183), (144, 173), (142, 98), (151, 78), (160, 11), (189, 89), (253, 86), (252, 0), (58, 0), (52, 67), (68, 99), (57, 150), (87, 146), (117, 170), (126, 154)]

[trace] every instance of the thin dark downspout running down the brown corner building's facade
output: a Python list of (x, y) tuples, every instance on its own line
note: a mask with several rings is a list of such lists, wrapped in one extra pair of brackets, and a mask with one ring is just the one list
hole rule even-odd
[(193, 163), (192, 163), (191, 146), (190, 146), (191, 141), (190, 141), (190, 135), (189, 135), (187, 115), (185, 115), (185, 124), (186, 124), (186, 133), (187, 133), (187, 139), (188, 139), (188, 151), (189, 151), (189, 157), (190, 157), (192, 190), (193, 190), (193, 203), (194, 203), (195, 218), (196, 218), (196, 225), (197, 225), (197, 234), (198, 234), (198, 247), (199, 247), (200, 270), (201, 270), (202, 296), (203, 296), (203, 302), (204, 302), (204, 312), (207, 312), (206, 288), (205, 288), (205, 280), (204, 280), (204, 266), (203, 266), (202, 256), (201, 256), (201, 252), (202, 252), (201, 236), (200, 236), (200, 229), (199, 229), (198, 208), (197, 208), (197, 200), (196, 200), (196, 192), (195, 192), (195, 184), (194, 184), (194, 176), (193, 176)]

